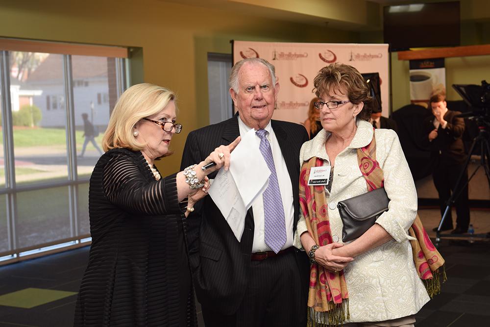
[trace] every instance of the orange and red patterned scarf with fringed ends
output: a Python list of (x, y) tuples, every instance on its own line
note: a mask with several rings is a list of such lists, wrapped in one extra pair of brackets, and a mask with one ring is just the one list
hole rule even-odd
[[(371, 143), (357, 149), (359, 168), (366, 179), (368, 192), (384, 185), (383, 170), (376, 161), (376, 141), (373, 133)], [(324, 186), (308, 186), (312, 167), (323, 165), (323, 159), (313, 157), (303, 162), (299, 175), (299, 203), (305, 217), (308, 232), (319, 246), (332, 243)], [(427, 293), (432, 298), (441, 291), (440, 280), (446, 280), (444, 259), (432, 244), (420, 218), (417, 217), (408, 230), (412, 253), (418, 276), (423, 280)], [(330, 272), (318, 264), (310, 269), (308, 294), (308, 327), (340, 325), (349, 319), (349, 294), (343, 271)]]

